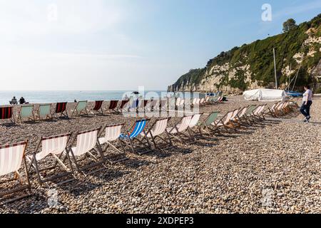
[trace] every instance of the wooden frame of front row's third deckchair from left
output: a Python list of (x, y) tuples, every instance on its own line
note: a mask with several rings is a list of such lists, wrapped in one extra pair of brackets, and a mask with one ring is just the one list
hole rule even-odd
[[(96, 139), (96, 147), (94, 147), (92, 150), (94, 150), (96, 153), (98, 153), (98, 155), (101, 157), (101, 160), (99, 160), (95, 155), (93, 155), (93, 153), (91, 151), (87, 151), (85, 154), (81, 155), (81, 156), (85, 156), (83, 159), (77, 160), (76, 156), (73, 153), (72, 147), (73, 147), (73, 145), (75, 145), (75, 142), (77, 141), (78, 135), (91, 133), (93, 131), (97, 131), (97, 139)], [(101, 131), (101, 128), (96, 128), (96, 129), (93, 129), (93, 130), (86, 130), (86, 131), (83, 131), (83, 132), (76, 133), (74, 138), (71, 140), (71, 145), (68, 146), (68, 152), (70, 152), (70, 154), (71, 154), (71, 160), (72, 160), (73, 164), (76, 166), (76, 170), (81, 175), (85, 175), (86, 176), (86, 175), (89, 175), (89, 174), (92, 174), (92, 173), (95, 173), (95, 172), (99, 172), (99, 171), (104, 170), (104, 169), (107, 168), (105, 165), (103, 165), (103, 163), (105, 162), (105, 158), (103, 157), (103, 152), (101, 150), (101, 145), (99, 144), (99, 139), (98, 139), (98, 134), (99, 134), (100, 131)], [(78, 157), (80, 157), (80, 156), (78, 156)], [(86, 160), (86, 157), (91, 157), (92, 160), (94, 161), (93, 164), (85, 165), (83, 167), (80, 167), (78, 162)], [(98, 166), (103, 166), (103, 167), (101, 167), (98, 170), (94, 170), (92, 172), (85, 173), (86, 170), (89, 170), (91, 168), (98, 167)]]

